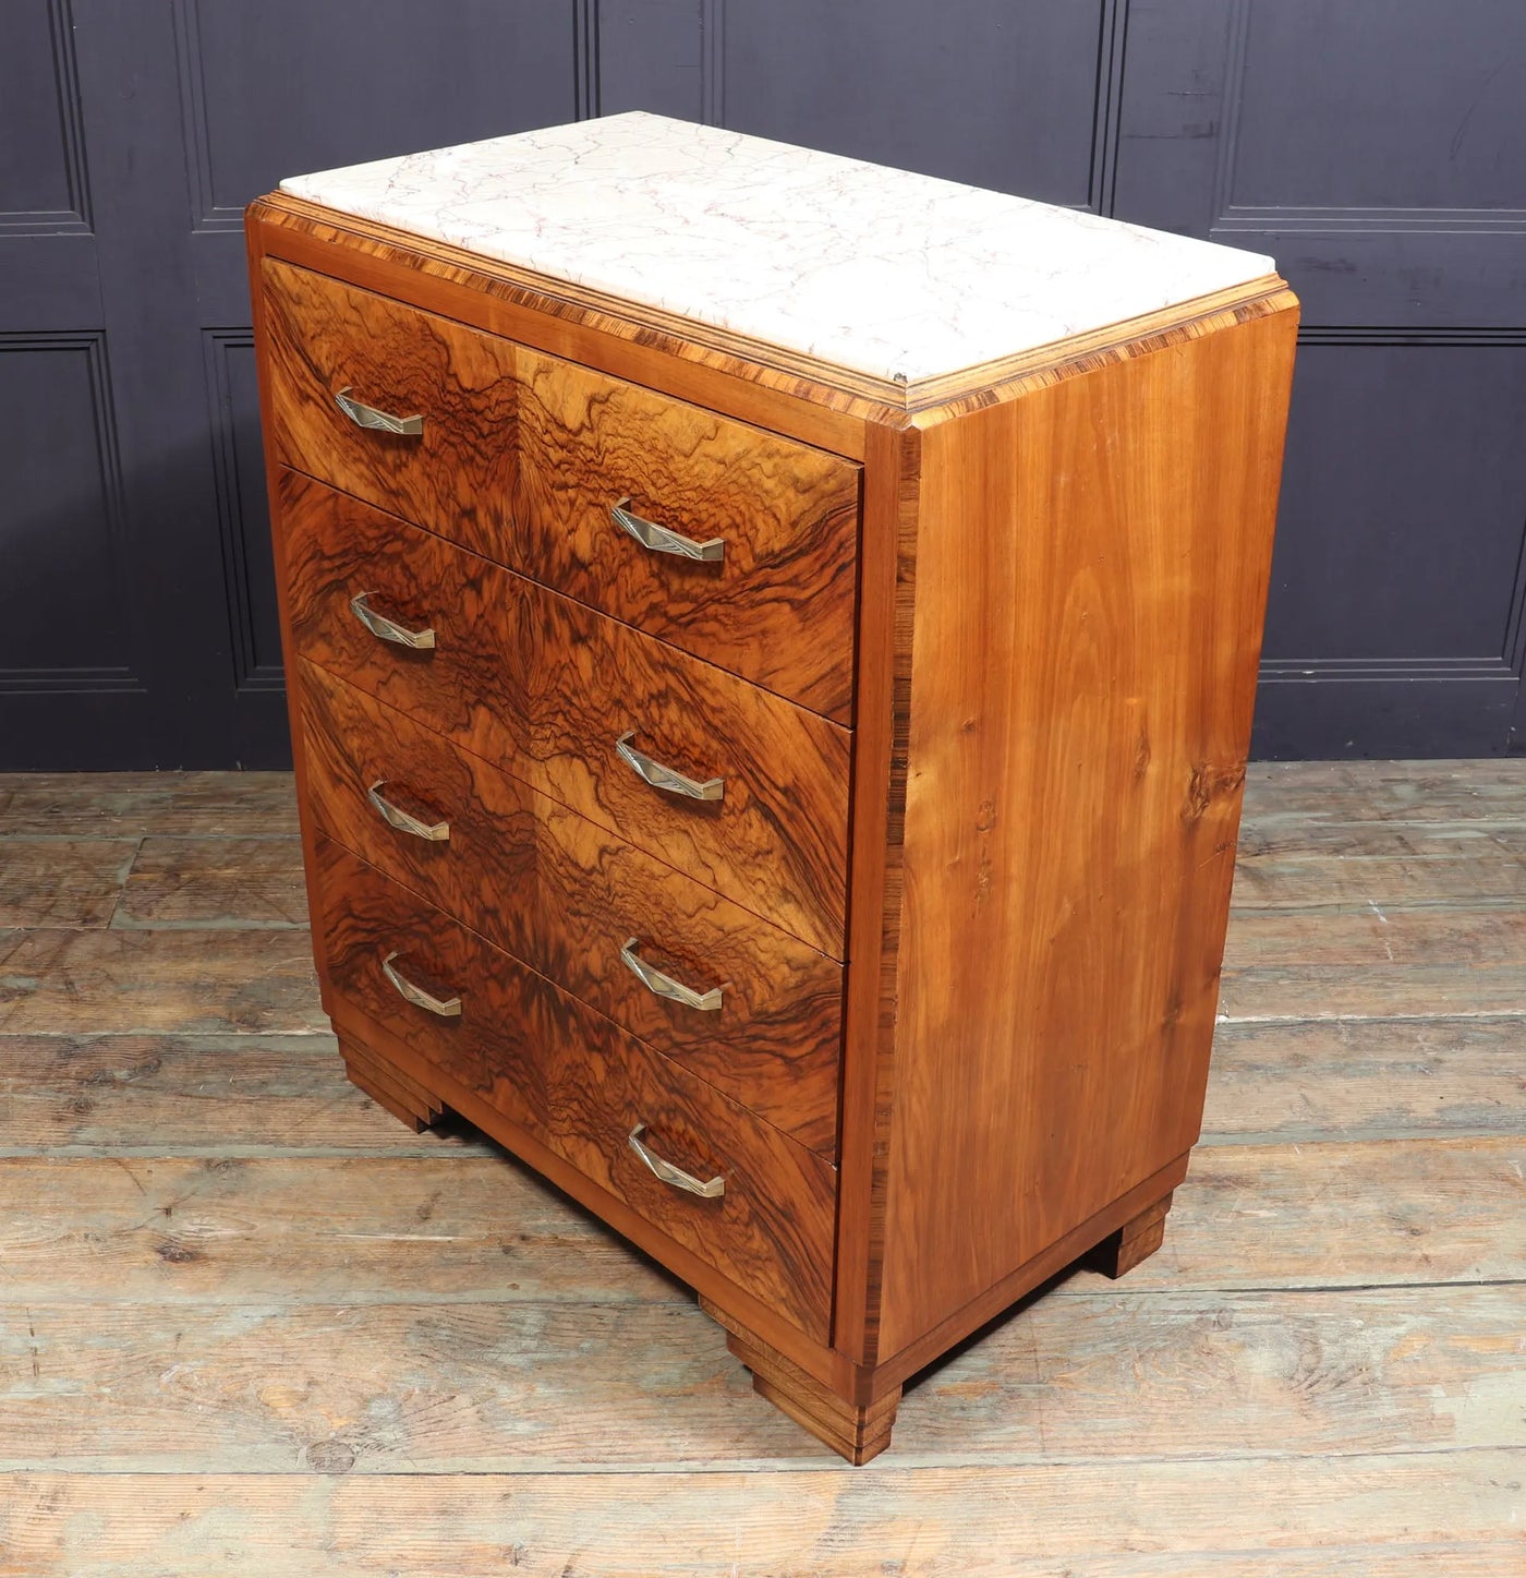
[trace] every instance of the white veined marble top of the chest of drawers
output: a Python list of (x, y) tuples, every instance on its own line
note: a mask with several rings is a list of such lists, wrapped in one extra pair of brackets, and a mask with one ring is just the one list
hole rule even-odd
[(281, 189), (906, 383), (1274, 268), (1238, 248), (645, 112)]

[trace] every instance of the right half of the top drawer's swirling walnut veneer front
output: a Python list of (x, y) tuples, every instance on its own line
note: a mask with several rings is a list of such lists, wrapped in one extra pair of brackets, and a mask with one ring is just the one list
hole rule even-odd
[[(850, 723), (859, 467), (555, 357), (519, 376), (520, 530), (467, 546)], [(642, 548), (610, 519), (626, 495), (725, 559)]]

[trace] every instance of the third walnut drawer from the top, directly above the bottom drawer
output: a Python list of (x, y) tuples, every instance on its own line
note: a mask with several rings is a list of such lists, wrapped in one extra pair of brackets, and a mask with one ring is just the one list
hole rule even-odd
[(300, 661), (293, 683), (318, 827), (801, 1144), (836, 1150), (840, 964), (323, 669)]

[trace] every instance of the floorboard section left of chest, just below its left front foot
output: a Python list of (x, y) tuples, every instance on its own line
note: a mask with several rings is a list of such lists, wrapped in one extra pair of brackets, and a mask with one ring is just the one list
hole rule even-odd
[(692, 1302), (497, 1154), (0, 1160), (0, 1264), (9, 1302), (166, 1311), (208, 1299)]

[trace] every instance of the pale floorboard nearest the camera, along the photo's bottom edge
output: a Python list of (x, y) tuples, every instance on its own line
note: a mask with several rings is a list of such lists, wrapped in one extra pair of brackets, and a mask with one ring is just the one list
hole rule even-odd
[[(207, 1578), (1502, 1578), (1526, 1449), (823, 1474), (16, 1475), (22, 1572)], [(886, 1553), (895, 1553), (888, 1556)]]

